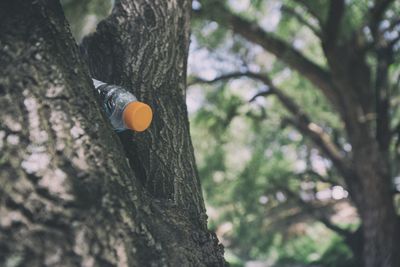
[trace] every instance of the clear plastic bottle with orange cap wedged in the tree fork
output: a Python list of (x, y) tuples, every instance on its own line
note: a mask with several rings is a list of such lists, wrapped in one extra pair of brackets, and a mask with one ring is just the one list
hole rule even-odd
[(116, 131), (131, 129), (142, 132), (150, 126), (153, 111), (149, 105), (138, 101), (121, 86), (92, 80), (103, 102), (103, 108)]

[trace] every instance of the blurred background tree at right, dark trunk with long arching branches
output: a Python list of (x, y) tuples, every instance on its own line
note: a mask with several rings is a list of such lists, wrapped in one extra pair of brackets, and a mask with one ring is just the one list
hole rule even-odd
[[(318, 131), (310, 129), (313, 120), (293, 105), (296, 100), (282, 97), (283, 90), (277, 89), (265, 74), (241, 74), (267, 85), (269, 94), (275, 94), (293, 115), (289, 120), (291, 124), (313, 141), (343, 177), (361, 219), (360, 229), (349, 242), (354, 246), (362, 245), (361, 249), (355, 247), (353, 251), (355, 256), (360, 255), (359, 251), (363, 252), (363, 266), (399, 266), (400, 256), (396, 250), (400, 246), (400, 224), (393, 203), (390, 173), (393, 166), (390, 166), (389, 156), (393, 129), (390, 129), (388, 76), (395, 59), (393, 53), (396, 53), (393, 45), (398, 40), (389, 45), (385, 34), (378, 30), (385, 20), (386, 10), (393, 6), (394, 1), (372, 1), (365, 14), (365, 24), (351, 31), (344, 30), (342, 25), (347, 15), (346, 1), (326, 1), (328, 12), (325, 15), (319, 14), (316, 7), (306, 2), (298, 1), (298, 7), (305, 8), (321, 25), (317, 37), (327, 60), (326, 66), (316, 64), (290, 41), (265, 31), (251, 19), (235, 14), (223, 3), (206, 2), (196, 13), (199, 18), (229, 27), (234, 33), (274, 54), (325, 96), (343, 123), (343, 137), (351, 145), (350, 152), (332, 142), (330, 134), (322, 127)], [(371, 30), (372, 41), (365, 40), (360, 34), (367, 28)], [(372, 57), (377, 61), (376, 69), (369, 63)], [(358, 236), (361, 231), (362, 238)]]

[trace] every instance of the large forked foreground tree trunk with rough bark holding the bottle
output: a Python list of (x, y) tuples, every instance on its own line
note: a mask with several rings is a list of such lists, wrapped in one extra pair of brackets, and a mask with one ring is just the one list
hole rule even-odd
[(225, 265), (186, 114), (190, 1), (117, 2), (91, 72), (155, 112), (122, 142), (59, 3), (0, 3), (0, 266)]

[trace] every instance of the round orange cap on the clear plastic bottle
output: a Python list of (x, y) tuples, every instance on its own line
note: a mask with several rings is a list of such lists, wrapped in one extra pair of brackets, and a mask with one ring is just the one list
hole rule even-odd
[(127, 128), (136, 132), (143, 132), (150, 126), (153, 111), (149, 105), (135, 101), (125, 107), (122, 118)]

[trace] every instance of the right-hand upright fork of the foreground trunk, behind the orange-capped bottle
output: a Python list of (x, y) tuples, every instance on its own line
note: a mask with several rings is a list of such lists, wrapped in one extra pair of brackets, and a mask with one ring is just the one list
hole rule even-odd
[(185, 103), (190, 8), (186, 0), (119, 1), (83, 50), (94, 77), (131, 88), (154, 110), (149, 131), (120, 135), (137, 177), (155, 198), (199, 217)]

